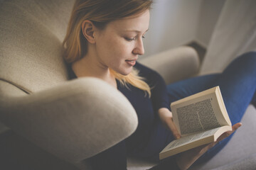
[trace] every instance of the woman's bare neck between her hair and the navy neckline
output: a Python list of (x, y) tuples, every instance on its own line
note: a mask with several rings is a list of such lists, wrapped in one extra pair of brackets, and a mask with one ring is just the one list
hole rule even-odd
[(73, 62), (72, 69), (75, 75), (79, 77), (96, 77), (106, 81), (108, 84), (117, 88), (117, 82), (110, 73), (110, 68), (104, 67), (100, 62), (93, 60), (95, 57), (86, 55), (82, 59)]

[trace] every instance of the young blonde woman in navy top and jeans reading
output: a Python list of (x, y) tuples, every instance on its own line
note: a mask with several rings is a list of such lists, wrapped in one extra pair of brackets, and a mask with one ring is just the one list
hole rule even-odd
[(63, 42), (64, 58), (70, 63), (74, 78), (97, 77), (107, 81), (129, 99), (139, 118), (132, 136), (92, 157), (93, 169), (127, 169), (127, 154), (159, 162), (159, 152), (180, 137), (172, 121), (170, 102), (218, 85), (230, 119), (236, 123), (233, 131), (220, 136), (218, 142), (165, 159), (153, 168), (188, 169), (202, 155), (201, 161), (210, 159), (224, 147), (240, 127), (240, 119), (252, 98), (255, 101), (253, 52), (239, 57), (222, 74), (168, 86), (158, 73), (139, 64), (138, 56), (144, 54), (142, 39), (149, 28), (151, 3), (151, 0), (75, 1)]

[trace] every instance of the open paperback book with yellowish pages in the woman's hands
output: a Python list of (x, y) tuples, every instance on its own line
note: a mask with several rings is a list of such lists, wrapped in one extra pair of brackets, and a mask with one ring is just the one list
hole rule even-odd
[(160, 159), (215, 142), (232, 130), (219, 86), (171, 103), (171, 111), (181, 138), (167, 145)]

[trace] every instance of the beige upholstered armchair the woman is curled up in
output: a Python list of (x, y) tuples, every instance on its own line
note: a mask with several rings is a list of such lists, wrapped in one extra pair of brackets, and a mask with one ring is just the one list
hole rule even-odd
[[(0, 154), (20, 148), (26, 154), (12, 156), (29, 159), (31, 169), (91, 169), (87, 158), (137, 128), (134, 108), (112, 86), (95, 78), (69, 81), (61, 42), (73, 2), (12, 0), (0, 5), (0, 145), (13, 140), (13, 145), (0, 146), (6, 149)], [(166, 83), (191, 77), (199, 67), (191, 47), (140, 62), (156, 69)], [(129, 158), (128, 166), (138, 170), (153, 164)]]

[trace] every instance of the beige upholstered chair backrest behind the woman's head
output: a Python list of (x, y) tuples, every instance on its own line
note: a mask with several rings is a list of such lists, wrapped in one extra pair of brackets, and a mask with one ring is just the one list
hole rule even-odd
[(0, 81), (29, 94), (68, 79), (62, 41), (73, 4), (74, 0), (1, 2)]

